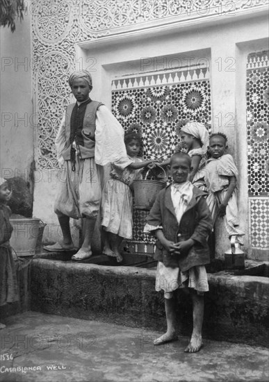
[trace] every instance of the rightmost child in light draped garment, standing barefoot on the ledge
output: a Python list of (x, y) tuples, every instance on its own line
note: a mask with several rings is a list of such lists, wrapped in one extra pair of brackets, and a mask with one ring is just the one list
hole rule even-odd
[(204, 180), (209, 190), (206, 201), (211, 210), (213, 224), (218, 216), (224, 217), (229, 236), (244, 235), (238, 226), (236, 183), (238, 170), (231, 155), (225, 154), (227, 136), (222, 133), (211, 135), (209, 153), (211, 158), (204, 167)]

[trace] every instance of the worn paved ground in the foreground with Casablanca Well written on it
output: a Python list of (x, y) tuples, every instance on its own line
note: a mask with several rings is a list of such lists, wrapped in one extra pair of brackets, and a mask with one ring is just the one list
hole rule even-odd
[(188, 338), (154, 347), (155, 331), (35, 312), (3, 321), (0, 381), (268, 381), (263, 347), (205, 341), (185, 354)]

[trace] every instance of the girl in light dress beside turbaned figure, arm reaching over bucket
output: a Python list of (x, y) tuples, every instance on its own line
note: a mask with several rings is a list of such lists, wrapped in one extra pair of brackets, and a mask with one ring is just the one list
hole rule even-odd
[(154, 162), (142, 161), (138, 154), (142, 147), (142, 140), (136, 133), (128, 133), (124, 137), (127, 156), (112, 163), (111, 178), (108, 179), (102, 194), (101, 226), (104, 230), (103, 254), (122, 261), (120, 244), (123, 238), (132, 237), (133, 197), (131, 185), (138, 177), (140, 169)]

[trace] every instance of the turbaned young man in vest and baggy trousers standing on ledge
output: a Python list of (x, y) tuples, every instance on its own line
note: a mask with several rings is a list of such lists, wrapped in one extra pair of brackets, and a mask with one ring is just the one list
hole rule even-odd
[(120, 123), (106, 106), (90, 99), (90, 73), (86, 70), (74, 72), (69, 85), (76, 103), (67, 106), (55, 141), (63, 173), (54, 211), (58, 215), (63, 240), (44, 249), (74, 250), (70, 217), (83, 217), (83, 244), (72, 260), (84, 260), (92, 256), (91, 239), (101, 201), (102, 166), (127, 154)]

